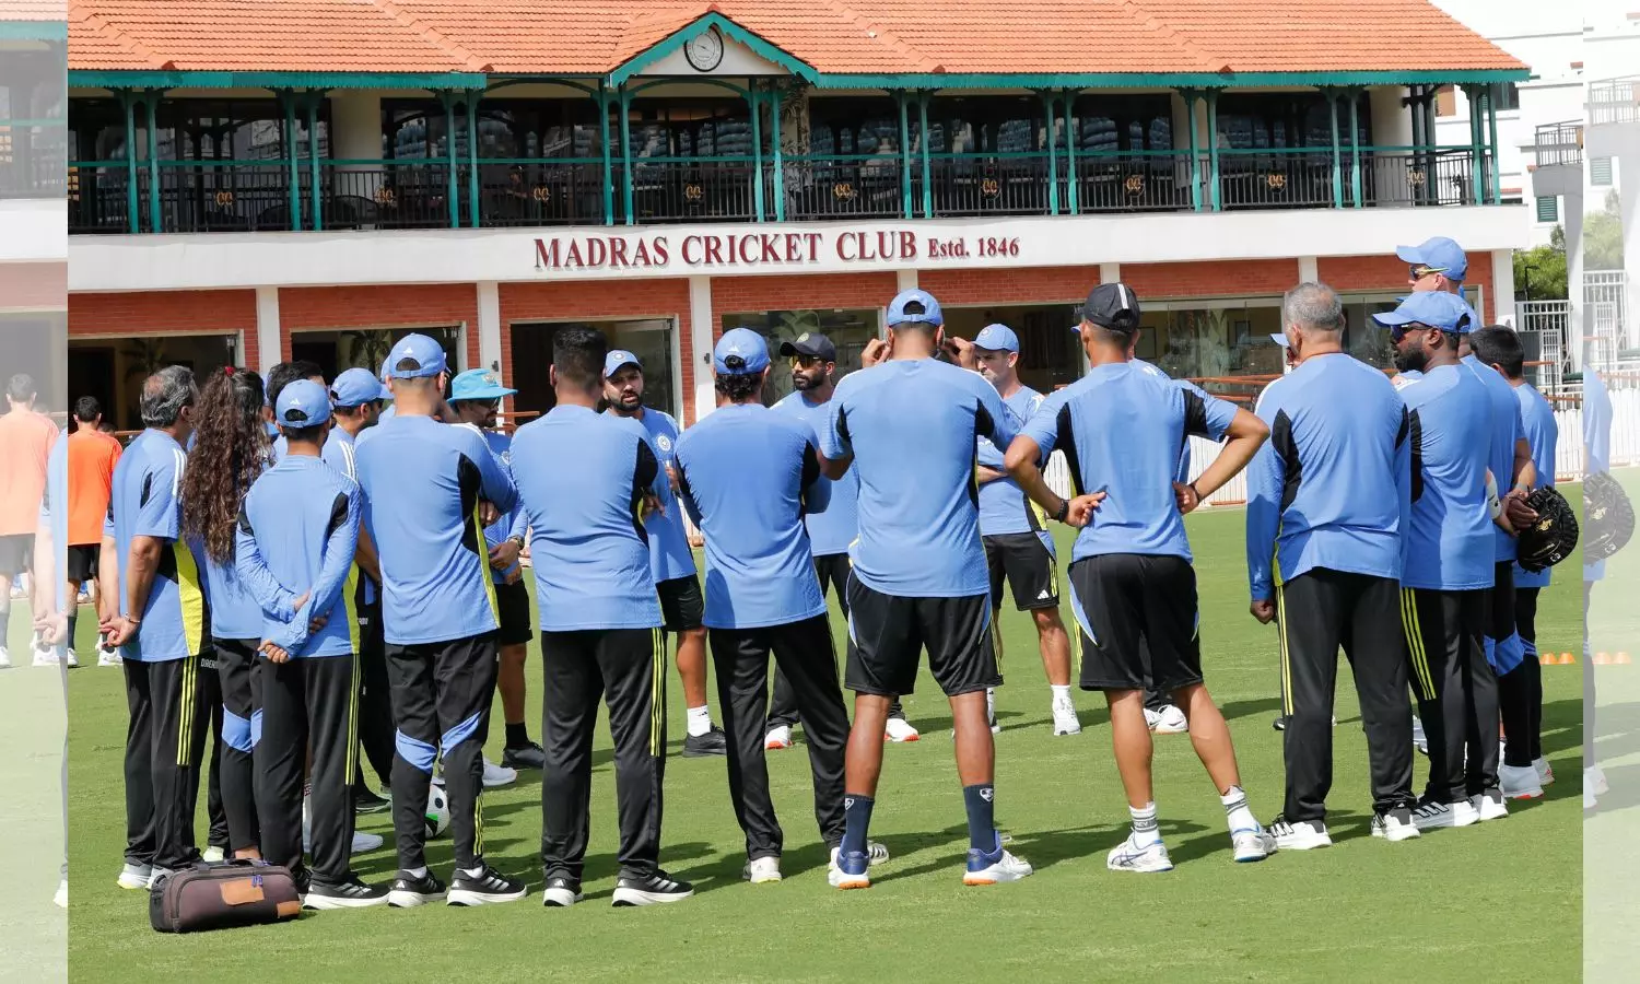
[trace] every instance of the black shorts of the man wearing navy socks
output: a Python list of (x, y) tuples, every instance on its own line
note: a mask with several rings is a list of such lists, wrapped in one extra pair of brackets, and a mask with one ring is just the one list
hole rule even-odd
[(991, 640), (991, 597), (905, 599), (848, 579), (848, 671), (858, 694), (900, 697), (917, 686), (918, 653), (946, 697), (1000, 687)]

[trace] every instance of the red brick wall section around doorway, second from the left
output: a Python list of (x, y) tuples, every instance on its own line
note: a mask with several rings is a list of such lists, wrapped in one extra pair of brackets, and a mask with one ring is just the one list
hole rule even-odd
[(399, 325), (466, 325), (467, 366), (479, 366), (476, 284), (285, 287), (279, 292), (280, 359), (290, 356), (292, 331)]

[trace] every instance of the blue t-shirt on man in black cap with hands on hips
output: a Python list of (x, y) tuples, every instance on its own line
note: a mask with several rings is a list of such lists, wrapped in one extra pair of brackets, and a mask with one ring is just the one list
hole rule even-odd
[(1109, 362), (1043, 400), (1022, 431), (1041, 459), (1058, 448), (1076, 495), (1105, 492), (1076, 535), (1071, 561), (1099, 554), (1191, 559), (1173, 481), (1189, 435), (1223, 438), (1235, 405), (1168, 379), (1155, 366)]

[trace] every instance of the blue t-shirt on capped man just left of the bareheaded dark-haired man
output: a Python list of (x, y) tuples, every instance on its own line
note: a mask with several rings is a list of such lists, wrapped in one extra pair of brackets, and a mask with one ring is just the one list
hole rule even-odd
[(382, 623), (397, 646), (464, 640), (500, 625), (479, 500), (518, 500), (489, 444), (464, 426), (397, 415), (354, 446), (382, 566)]

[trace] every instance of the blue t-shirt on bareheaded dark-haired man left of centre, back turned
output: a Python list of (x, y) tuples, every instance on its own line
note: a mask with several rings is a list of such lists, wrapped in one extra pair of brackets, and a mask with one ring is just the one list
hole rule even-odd
[(559, 403), (513, 435), (512, 471), (541, 631), (659, 628), (641, 510), (645, 492), (664, 499), (667, 479), (645, 430)]

